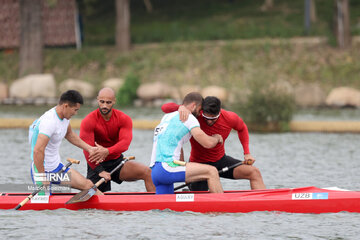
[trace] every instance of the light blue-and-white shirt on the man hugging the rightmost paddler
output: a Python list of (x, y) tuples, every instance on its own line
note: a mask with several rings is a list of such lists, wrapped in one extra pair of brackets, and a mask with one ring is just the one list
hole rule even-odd
[(150, 167), (155, 162), (179, 160), (181, 148), (191, 138), (190, 131), (194, 127), (200, 127), (200, 124), (192, 114), (184, 123), (179, 119), (179, 112), (165, 114), (154, 130)]

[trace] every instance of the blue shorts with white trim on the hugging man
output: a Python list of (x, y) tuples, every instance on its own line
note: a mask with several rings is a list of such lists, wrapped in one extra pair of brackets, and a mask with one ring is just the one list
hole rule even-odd
[(151, 171), (156, 194), (174, 193), (174, 183), (185, 182), (185, 169), (185, 166), (172, 162), (156, 162)]

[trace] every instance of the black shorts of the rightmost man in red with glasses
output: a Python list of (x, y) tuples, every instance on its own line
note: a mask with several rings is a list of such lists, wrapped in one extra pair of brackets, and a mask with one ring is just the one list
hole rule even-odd
[[(241, 162), (241, 161), (238, 160), (238, 159), (235, 159), (233, 157), (224, 155), (217, 162), (206, 162), (204, 164), (209, 164), (211, 166), (216, 167), (217, 170), (221, 170), (224, 167), (230, 167), (230, 166), (232, 166), (234, 164), (237, 164), (238, 162)], [(222, 177), (222, 178), (235, 179), (234, 178), (234, 168), (229, 169), (228, 171), (226, 171), (224, 173), (221, 173), (219, 176)], [(200, 181), (200, 182), (190, 183), (189, 189), (191, 191), (207, 191), (207, 190), (209, 190), (209, 187), (207, 185), (207, 181)]]

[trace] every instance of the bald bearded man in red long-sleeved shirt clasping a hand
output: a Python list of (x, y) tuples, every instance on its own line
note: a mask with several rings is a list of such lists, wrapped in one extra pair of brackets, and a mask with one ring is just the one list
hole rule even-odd
[(99, 109), (89, 113), (80, 126), (80, 138), (100, 149), (91, 157), (84, 151), (88, 163), (87, 178), (96, 183), (104, 177), (106, 183), (99, 186), (99, 190), (103, 192), (111, 190), (110, 180), (120, 184), (122, 181), (140, 179), (145, 181), (147, 191), (154, 192), (151, 169), (141, 163), (128, 161), (110, 176), (110, 172), (123, 160), (122, 153), (130, 146), (132, 120), (125, 113), (113, 109), (115, 92), (111, 88), (101, 89), (97, 101)]

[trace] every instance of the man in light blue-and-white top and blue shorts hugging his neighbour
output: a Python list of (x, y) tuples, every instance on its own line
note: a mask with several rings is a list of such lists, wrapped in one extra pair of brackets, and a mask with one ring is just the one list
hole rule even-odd
[[(188, 120), (181, 122), (179, 112), (166, 114), (154, 131), (154, 143), (150, 167), (157, 194), (174, 193), (174, 182), (206, 180), (210, 192), (222, 193), (219, 174), (215, 167), (200, 163), (178, 164), (183, 161), (182, 146), (194, 137), (205, 148), (222, 144), (219, 134), (209, 136), (200, 129), (195, 116), (201, 110), (203, 98), (193, 92), (185, 96), (183, 105), (192, 112)], [(195, 116), (194, 116), (195, 115)]]

